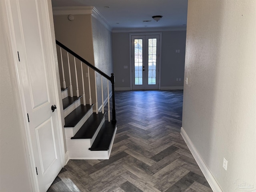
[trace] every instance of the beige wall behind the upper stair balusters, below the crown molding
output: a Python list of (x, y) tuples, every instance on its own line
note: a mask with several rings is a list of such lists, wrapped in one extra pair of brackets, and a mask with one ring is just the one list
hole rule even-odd
[[(82, 58), (94, 65), (94, 51), (93, 51), (93, 40), (92, 40), (92, 16), (91, 15), (74, 15), (74, 20), (68, 20), (68, 15), (62, 16), (53, 16), (54, 18), (54, 29), (56, 40), (73, 50), (75, 53), (80, 55)], [(60, 50), (57, 46), (58, 52), (58, 62), (60, 70), (60, 81), (61, 87), (63, 87), (63, 77), (62, 77), (62, 68), (61, 68), (61, 59), (60, 59)], [(74, 57), (70, 57), (70, 70), (72, 76), (72, 88), (74, 96), (76, 96), (76, 78), (74, 70)], [(67, 55), (66, 51), (63, 52), (63, 63), (64, 63), (64, 72), (66, 86), (70, 86), (69, 76), (68, 76), (68, 64), (67, 64)], [(79, 60), (76, 60), (76, 68), (78, 74), (78, 89), (79, 95), (82, 95), (82, 73), (81, 73), (81, 64)], [(83, 64), (83, 75), (84, 75), (84, 85), (85, 85), (85, 95), (86, 95), (86, 104), (89, 104), (89, 89), (88, 89), (88, 78), (86, 78), (87, 66)], [(94, 79), (94, 71), (90, 69), (90, 78)], [(95, 103), (95, 92), (94, 81), (90, 81), (91, 90), (92, 90), (92, 103)], [(81, 100), (82, 101), (82, 100)], [(94, 107), (95, 109), (95, 107)]]

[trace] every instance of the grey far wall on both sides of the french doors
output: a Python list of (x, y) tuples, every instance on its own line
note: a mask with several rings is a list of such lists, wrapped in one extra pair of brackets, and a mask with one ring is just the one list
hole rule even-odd
[[(143, 33), (141, 33), (143, 35)], [(130, 89), (129, 33), (112, 33), (116, 88)], [(162, 32), (161, 89), (183, 88), (186, 31)], [(180, 53), (176, 53), (180, 50)], [(124, 69), (124, 66), (128, 66)], [(176, 81), (176, 78), (181, 78)], [(124, 79), (124, 82), (122, 82)]]

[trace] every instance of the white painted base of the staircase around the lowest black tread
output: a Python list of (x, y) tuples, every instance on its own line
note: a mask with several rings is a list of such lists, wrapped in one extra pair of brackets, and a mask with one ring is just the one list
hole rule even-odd
[[(102, 121), (104, 122), (104, 121)], [(114, 143), (114, 137), (116, 135), (116, 129), (114, 131), (110, 147), (105, 151), (91, 151), (89, 148), (90, 139), (66, 139), (67, 151), (69, 159), (109, 159), (112, 146)], [(98, 131), (98, 130), (97, 130)]]

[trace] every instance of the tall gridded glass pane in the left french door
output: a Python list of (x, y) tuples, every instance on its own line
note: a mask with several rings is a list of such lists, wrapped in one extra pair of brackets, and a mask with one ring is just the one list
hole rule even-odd
[(134, 39), (135, 85), (142, 85), (142, 39)]

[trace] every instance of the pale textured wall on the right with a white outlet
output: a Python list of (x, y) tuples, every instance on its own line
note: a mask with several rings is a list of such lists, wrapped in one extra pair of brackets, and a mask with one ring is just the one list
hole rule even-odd
[(188, 1), (182, 127), (224, 192), (236, 179), (256, 188), (255, 10), (255, 0)]

